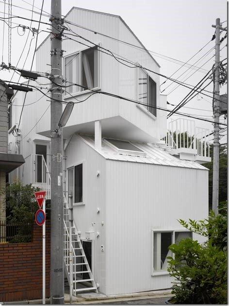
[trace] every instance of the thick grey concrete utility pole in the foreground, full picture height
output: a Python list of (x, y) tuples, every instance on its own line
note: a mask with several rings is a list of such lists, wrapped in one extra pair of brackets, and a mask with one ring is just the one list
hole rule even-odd
[[(61, 0), (51, 0), (51, 304), (64, 304), (64, 207)], [(56, 100), (53, 100), (56, 99)]]

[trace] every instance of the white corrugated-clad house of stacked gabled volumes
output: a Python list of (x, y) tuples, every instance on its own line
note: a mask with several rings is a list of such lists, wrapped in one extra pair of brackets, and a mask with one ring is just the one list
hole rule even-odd
[[(65, 86), (69, 85), (64, 88), (63, 99), (85, 100), (75, 104), (63, 129), (65, 198), (68, 202), (68, 195), (73, 196), (77, 230), (72, 238), (81, 240), (72, 243), (74, 292), (82, 290), (80, 284), (86, 279), (92, 281), (92, 288), (105, 294), (170, 288), (168, 246), (192, 235), (178, 219), (197, 220), (208, 215), (208, 169), (200, 164), (209, 161), (206, 137), (201, 138), (205, 131), (197, 132), (192, 121), (178, 120), (167, 134), (166, 111), (160, 109), (166, 108), (166, 96), (159, 92), (158, 74), (131, 69), (108, 52), (101, 52), (99, 47), (151, 71), (160, 71), (159, 64), (122, 18), (74, 7), (65, 20), (70, 22), (65, 23), (69, 27), (65, 38), (75, 40), (63, 40)], [(47, 37), (36, 50), (36, 71), (50, 72), (49, 54)], [(48, 92), (43, 84), (49, 80), (39, 78), (38, 82)], [(91, 95), (90, 90), (72, 83), (146, 106), (99, 93)], [(24, 93), (17, 92), (12, 101), (12, 125), (18, 125)], [(12, 153), (23, 154), (26, 161), (20, 179), (46, 188), (48, 195), (49, 104), (49, 98), (40, 91), (29, 92), (19, 136), (11, 135), (9, 139)], [(181, 137), (186, 137), (182, 140), (184, 146)], [(65, 210), (69, 279), (67, 204)], [(193, 238), (201, 239), (195, 234)], [(77, 256), (86, 261), (86, 269), (76, 269), (81, 263)]]

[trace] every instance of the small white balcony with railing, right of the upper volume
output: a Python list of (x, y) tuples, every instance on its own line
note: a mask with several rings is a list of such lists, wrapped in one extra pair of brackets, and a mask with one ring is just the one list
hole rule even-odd
[(181, 160), (200, 164), (211, 162), (209, 130), (196, 127), (194, 120), (179, 118), (171, 121), (167, 135), (162, 140), (167, 151)]

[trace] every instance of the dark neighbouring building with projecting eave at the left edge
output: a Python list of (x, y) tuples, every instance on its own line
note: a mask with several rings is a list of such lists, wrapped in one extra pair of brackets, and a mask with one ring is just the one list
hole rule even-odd
[[(8, 152), (8, 129), (11, 127), (11, 107), (9, 101), (13, 94), (14, 90), (10, 89), (7, 84), (0, 80), (0, 221), (3, 222), (6, 221), (6, 177), (8, 180), (8, 174), (25, 162), (22, 155)], [(0, 227), (0, 229), (3, 229), (3, 227)], [(3, 242), (4, 237), (2, 233), (0, 233), (0, 237), (0, 242)]]

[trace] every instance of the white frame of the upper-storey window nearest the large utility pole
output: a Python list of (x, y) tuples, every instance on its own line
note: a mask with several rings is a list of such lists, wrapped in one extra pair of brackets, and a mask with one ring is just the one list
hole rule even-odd
[[(98, 43), (97, 45), (100, 46), (100, 43)], [(65, 57), (63, 58), (63, 67), (64, 67), (64, 76), (65, 76), (65, 58), (67, 58), (68, 56), (72, 56), (74, 54), (80, 54), (80, 85), (82, 85), (82, 71), (81, 71), (82, 52), (86, 51), (86, 50), (89, 50), (89, 49), (92, 49), (92, 47), (91, 48), (88, 48), (88, 47), (82, 48), (77, 52), (73, 52), (73, 53), (65, 55)], [(99, 72), (100, 72), (100, 52), (99, 52), (99, 48), (98, 48), (98, 86), (93, 88), (95, 90), (100, 89), (100, 78), (99, 78), (100, 73)], [(67, 88), (66, 88), (66, 90), (67, 90)], [(77, 91), (77, 92), (73, 92), (71, 94), (68, 94), (68, 93), (65, 92), (64, 93), (64, 98), (70, 98), (72, 96), (78, 96), (78, 95), (82, 95), (83, 93), (88, 93), (88, 92), (91, 92), (91, 90), (82, 90), (82, 91), (80, 90), (80, 91)]]

